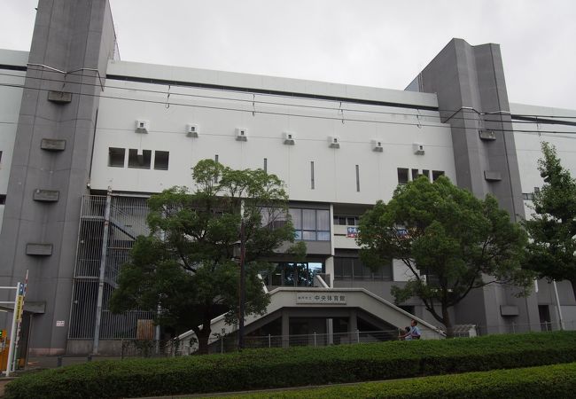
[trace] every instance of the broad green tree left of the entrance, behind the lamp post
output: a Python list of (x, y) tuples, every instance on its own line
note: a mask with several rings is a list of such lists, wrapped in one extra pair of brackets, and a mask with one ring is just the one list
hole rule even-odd
[[(210, 322), (238, 317), (239, 267), (234, 257), (244, 225), (245, 315), (269, 303), (258, 273), (262, 259), (293, 242), (283, 183), (261, 169), (234, 170), (214, 160), (193, 168), (196, 189), (173, 187), (148, 201), (149, 236), (141, 236), (122, 267), (110, 307), (157, 312), (155, 322), (175, 332), (193, 330), (199, 353), (207, 352)], [(300, 247), (300, 253), (304, 250)]]

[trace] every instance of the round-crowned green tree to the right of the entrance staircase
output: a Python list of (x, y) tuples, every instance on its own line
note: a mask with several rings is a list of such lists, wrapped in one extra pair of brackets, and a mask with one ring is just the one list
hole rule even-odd
[(398, 259), (409, 270), (405, 286), (393, 286), (396, 303), (418, 297), (454, 336), (448, 309), (471, 292), (493, 283), (514, 284), (518, 294), (531, 285), (521, 269), (525, 231), (510, 222), (493, 196), (479, 200), (440, 176), (421, 176), (400, 185), (393, 199), (362, 215), (357, 239), (362, 262), (376, 270)]

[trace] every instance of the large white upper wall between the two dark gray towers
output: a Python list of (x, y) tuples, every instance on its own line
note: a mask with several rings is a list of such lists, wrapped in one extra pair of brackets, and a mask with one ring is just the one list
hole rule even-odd
[[(435, 106), (430, 94), (167, 66), (111, 62), (108, 73), (164, 79), (175, 79), (177, 74), (188, 82), (315, 90), (318, 95)], [(150, 121), (147, 134), (135, 132), (137, 119)], [(188, 123), (198, 125), (198, 138), (186, 136)], [(247, 141), (236, 140), (236, 128), (247, 129)], [(284, 145), (283, 132), (294, 135), (295, 145)], [(329, 147), (332, 136), (339, 137), (339, 149)], [(382, 141), (383, 153), (372, 151), (374, 139)], [(424, 155), (413, 153), (415, 142), (425, 145)], [(109, 147), (168, 151), (169, 170), (108, 167)], [(291, 200), (363, 204), (389, 200), (398, 183), (397, 168), (442, 170), (455, 179), (450, 129), (436, 112), (107, 79), (98, 113), (92, 189), (160, 192), (175, 184), (191, 186), (191, 168), (215, 155), (231, 168), (263, 168), (267, 159), (269, 172), (284, 180)]]

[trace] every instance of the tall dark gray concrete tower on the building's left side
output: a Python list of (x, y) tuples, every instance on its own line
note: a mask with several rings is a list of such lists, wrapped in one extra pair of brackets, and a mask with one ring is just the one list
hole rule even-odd
[[(105, 76), (115, 35), (107, 0), (40, 0), (29, 64), (61, 71), (97, 68)], [(49, 91), (72, 93), (71, 102), (48, 100)], [(28, 65), (0, 236), (3, 286), (23, 281), (27, 301), (44, 301), (30, 335), (31, 354), (64, 352), (73, 286), (81, 197), (87, 189), (100, 81), (93, 71), (61, 74)], [(43, 138), (66, 149), (41, 149)], [(58, 201), (33, 200), (36, 189), (58, 191)], [(50, 255), (27, 254), (27, 244), (51, 244)], [(56, 327), (64, 320), (65, 327)]]

